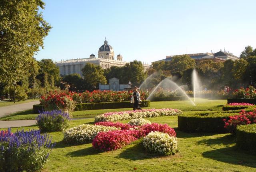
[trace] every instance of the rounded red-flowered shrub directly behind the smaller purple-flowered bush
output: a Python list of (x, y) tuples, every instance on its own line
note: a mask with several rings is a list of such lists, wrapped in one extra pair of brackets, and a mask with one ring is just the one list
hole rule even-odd
[(75, 102), (66, 92), (50, 92), (41, 96), (40, 104), (44, 105), (46, 110), (63, 110), (69, 114), (75, 109)]

